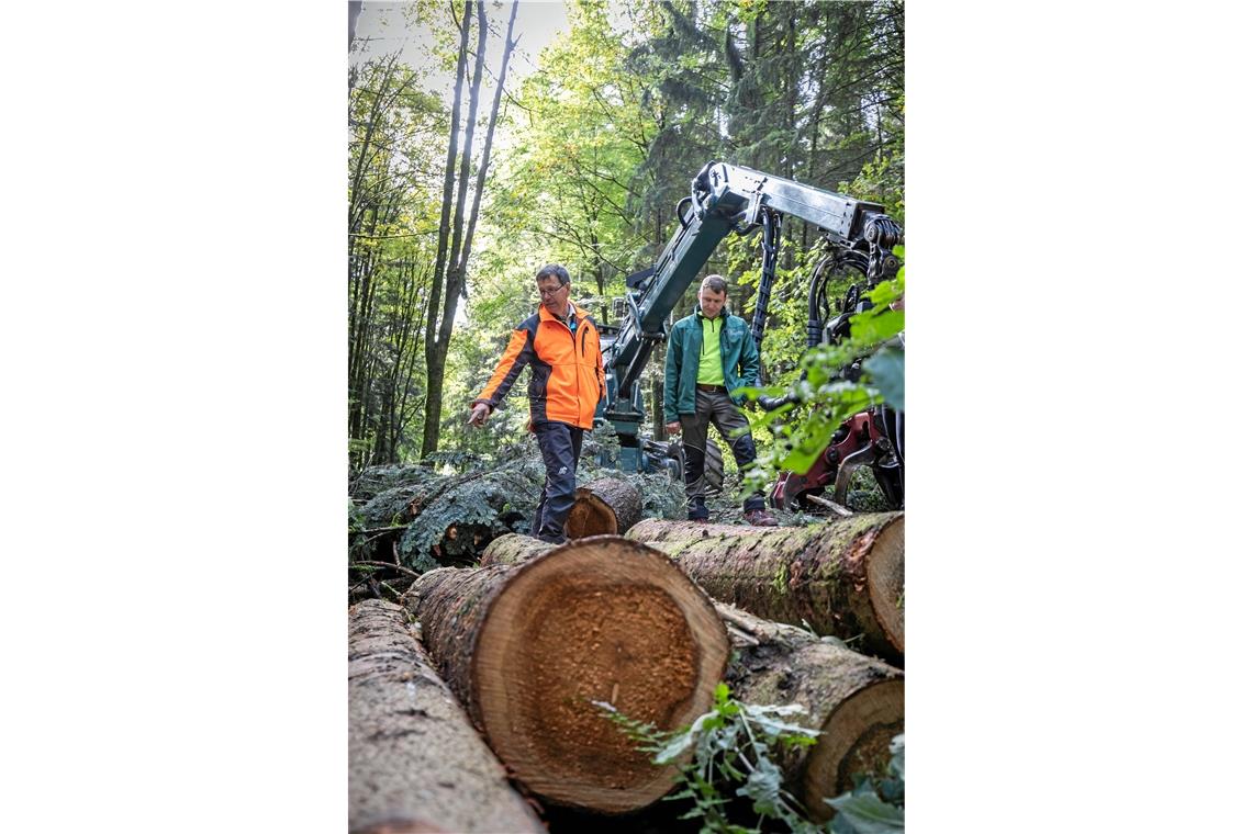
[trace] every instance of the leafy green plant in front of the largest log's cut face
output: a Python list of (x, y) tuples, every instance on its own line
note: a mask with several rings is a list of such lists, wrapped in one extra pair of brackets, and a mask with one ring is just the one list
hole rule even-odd
[[(700, 819), (701, 831), (750, 834), (765, 820), (776, 820), (793, 831), (818, 831), (804, 818), (800, 803), (782, 788), (782, 774), (771, 758), (788, 746), (816, 743), (818, 730), (788, 721), (804, 713), (799, 704), (757, 706), (730, 696), (725, 683), (714, 691), (712, 709), (690, 728), (664, 733), (652, 724), (630, 719), (611, 704), (593, 701), (623, 731), (652, 754), (656, 765), (672, 764), (689, 751), (691, 760), (679, 770), (680, 789), (666, 800), (690, 800), (691, 810), (680, 819)], [(727, 791), (731, 791), (727, 794)], [(751, 801), (755, 826), (731, 821), (727, 805), (732, 796)]]

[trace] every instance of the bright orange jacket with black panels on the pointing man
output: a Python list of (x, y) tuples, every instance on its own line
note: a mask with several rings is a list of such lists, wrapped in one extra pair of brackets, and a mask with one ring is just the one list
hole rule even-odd
[(475, 404), (486, 403), (495, 411), (530, 365), (531, 423), (556, 420), (590, 429), (596, 404), (605, 396), (605, 364), (596, 323), (580, 306), (575, 305), (573, 314), (578, 321), (573, 331), (543, 306), (517, 325)]

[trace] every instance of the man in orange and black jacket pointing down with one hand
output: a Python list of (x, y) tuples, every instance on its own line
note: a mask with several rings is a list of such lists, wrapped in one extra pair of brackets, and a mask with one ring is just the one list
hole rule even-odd
[(548, 264), (535, 276), (540, 310), (513, 329), (487, 386), (473, 401), (470, 425), (481, 426), (500, 408), (522, 368), (530, 365), (531, 431), (540, 441), (547, 476), (531, 523), (531, 535), (560, 544), (573, 509), (573, 483), (582, 433), (591, 428), (605, 396), (600, 331), (570, 301), (570, 273)]

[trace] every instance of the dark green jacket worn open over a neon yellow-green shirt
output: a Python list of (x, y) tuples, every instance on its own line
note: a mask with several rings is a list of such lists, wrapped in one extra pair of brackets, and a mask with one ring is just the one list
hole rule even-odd
[[(680, 414), (696, 411), (696, 374), (700, 371), (700, 346), (704, 328), (700, 326), (700, 305), (694, 315), (679, 319), (670, 331), (665, 349), (665, 421), (676, 423)], [(747, 323), (721, 309), (721, 371), (726, 378), (726, 390), (744, 385), (756, 385), (760, 355)], [(742, 404), (744, 398), (732, 398)]]

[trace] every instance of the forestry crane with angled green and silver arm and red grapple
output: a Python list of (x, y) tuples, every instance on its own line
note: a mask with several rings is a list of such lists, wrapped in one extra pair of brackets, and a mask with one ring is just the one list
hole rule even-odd
[[(601, 343), (608, 390), (597, 418), (613, 425), (621, 444), (617, 465), (626, 471), (681, 473), (674, 460), (677, 444), (640, 436), (645, 414), (639, 381), (652, 350), (669, 335), (674, 305), (727, 235), (761, 229), (761, 281), (751, 321), (757, 346), (765, 330), (784, 215), (810, 223), (823, 233), (824, 251), (809, 284), (810, 348), (846, 336), (849, 318), (871, 306), (869, 290), (894, 278), (900, 268), (891, 249), (903, 241), (904, 231), (881, 205), (749, 168), (709, 163), (691, 180), (691, 195), (679, 203), (677, 215), (679, 228), (656, 264), (626, 279), (621, 324), (606, 328)], [(864, 281), (853, 284), (838, 315), (830, 316), (826, 281), (846, 268), (861, 273)], [(771, 408), (781, 401), (762, 398), (761, 403)], [(789, 506), (803, 494), (834, 485), (834, 498), (843, 504), (850, 470), (858, 465), (871, 466), (888, 503), (903, 506), (903, 415), (884, 406), (853, 415), (808, 473), (780, 474), (770, 501)]]

